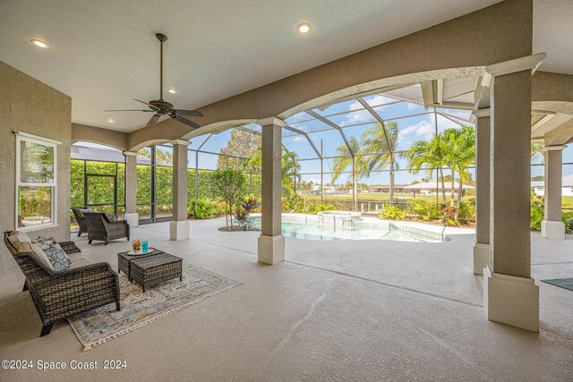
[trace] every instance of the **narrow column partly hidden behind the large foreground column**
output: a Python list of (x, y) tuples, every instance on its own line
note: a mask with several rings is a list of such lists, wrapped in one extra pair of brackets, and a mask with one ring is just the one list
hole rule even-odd
[(490, 108), (474, 111), (475, 245), (474, 275), (483, 275), (490, 259)]

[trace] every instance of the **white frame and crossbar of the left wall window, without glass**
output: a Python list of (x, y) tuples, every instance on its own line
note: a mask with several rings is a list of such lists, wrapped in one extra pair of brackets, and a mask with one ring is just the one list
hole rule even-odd
[[(30, 232), (30, 231), (38, 231), (47, 228), (54, 228), (57, 227), (57, 147), (61, 145), (61, 142), (56, 140), (48, 140), (46, 138), (38, 137), (35, 135), (27, 134), (25, 132), (18, 132), (14, 131), (16, 134), (16, 189), (15, 189), (15, 205), (16, 210), (14, 216), (14, 226), (15, 229), (21, 232)], [(21, 142), (31, 142), (36, 143), (42, 146), (47, 146), (54, 149), (54, 182), (53, 183), (23, 183), (21, 182), (20, 175), (21, 175)], [(50, 203), (51, 203), (51, 212), (52, 212), (52, 219), (50, 223), (42, 224), (42, 225), (30, 225), (28, 227), (19, 227), (18, 226), (18, 211), (20, 210), (19, 206), (19, 188), (20, 187), (51, 187), (50, 193)]]

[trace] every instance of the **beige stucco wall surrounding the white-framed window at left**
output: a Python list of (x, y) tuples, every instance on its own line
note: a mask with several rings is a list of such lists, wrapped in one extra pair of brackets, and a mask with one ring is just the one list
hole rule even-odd
[[(15, 220), (14, 130), (62, 142), (57, 152), (58, 226), (34, 231), (30, 236), (69, 240), (72, 98), (0, 61), (0, 229), (3, 233), (14, 229)], [(17, 267), (4, 243), (0, 248), (0, 273)]]

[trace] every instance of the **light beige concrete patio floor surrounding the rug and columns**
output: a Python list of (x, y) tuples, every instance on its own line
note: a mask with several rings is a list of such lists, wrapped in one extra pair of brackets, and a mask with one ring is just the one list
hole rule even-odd
[[(286, 261), (257, 263), (259, 233), (222, 233), (192, 221), (192, 239), (168, 223), (133, 228), (199, 267), (244, 284), (89, 352), (67, 322), (41, 327), (19, 269), (2, 275), (1, 359), (125, 360), (122, 370), (4, 370), (11, 380), (571, 380), (573, 293), (540, 286), (539, 334), (487, 321), (472, 234), (444, 243), (286, 239)], [(573, 276), (573, 240), (532, 233), (535, 279)], [(73, 238), (74, 240), (76, 238)], [(126, 241), (89, 245), (116, 264)], [(100, 366), (101, 367), (101, 366)]]

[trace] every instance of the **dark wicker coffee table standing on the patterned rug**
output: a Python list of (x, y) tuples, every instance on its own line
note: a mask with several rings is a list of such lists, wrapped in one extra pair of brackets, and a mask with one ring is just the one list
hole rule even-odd
[(135, 281), (145, 289), (179, 277), (183, 280), (183, 259), (170, 255), (162, 250), (154, 250), (143, 256), (130, 256), (127, 252), (117, 254), (120, 272), (124, 272), (129, 281)]

